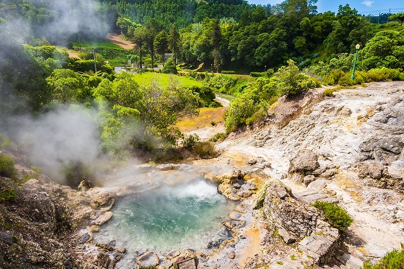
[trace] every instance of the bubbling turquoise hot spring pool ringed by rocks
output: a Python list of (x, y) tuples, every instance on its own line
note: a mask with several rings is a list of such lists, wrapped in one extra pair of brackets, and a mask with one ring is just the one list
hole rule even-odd
[(94, 234), (94, 241), (125, 247), (129, 255), (147, 250), (204, 251), (210, 242), (231, 238), (221, 221), (235, 206), (202, 178), (165, 185), (118, 198), (113, 218)]

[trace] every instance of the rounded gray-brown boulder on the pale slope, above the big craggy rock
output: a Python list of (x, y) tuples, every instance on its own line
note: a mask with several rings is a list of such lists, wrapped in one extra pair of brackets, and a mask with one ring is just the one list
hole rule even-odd
[(320, 167), (318, 156), (309, 149), (297, 151), (289, 161), (289, 173), (310, 172)]

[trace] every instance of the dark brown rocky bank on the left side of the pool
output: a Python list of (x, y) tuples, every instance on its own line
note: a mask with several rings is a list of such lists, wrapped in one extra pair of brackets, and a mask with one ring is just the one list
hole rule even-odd
[[(20, 177), (34, 172), (18, 150), (2, 153), (16, 159)], [(75, 190), (43, 174), (22, 184), (17, 199), (0, 206), (0, 268), (113, 268), (125, 250), (91, 241), (113, 203), (108, 193)]]

